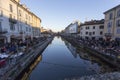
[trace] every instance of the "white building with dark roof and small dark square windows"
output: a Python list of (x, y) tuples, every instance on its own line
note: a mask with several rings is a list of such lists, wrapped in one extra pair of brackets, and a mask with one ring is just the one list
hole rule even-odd
[(104, 30), (104, 19), (91, 20), (80, 25), (79, 36), (83, 39), (102, 39)]

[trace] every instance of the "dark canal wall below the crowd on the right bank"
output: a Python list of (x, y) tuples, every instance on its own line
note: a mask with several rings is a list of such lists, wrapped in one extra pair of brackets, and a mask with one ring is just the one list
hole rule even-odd
[(65, 40), (67, 40), (68, 42), (70, 42), (72, 45), (78, 46), (82, 49), (84, 49), (85, 51), (89, 52), (90, 54), (93, 54), (94, 56), (100, 58), (102, 61), (107, 62), (108, 64), (110, 64), (113, 67), (117, 67), (120, 69), (120, 59), (117, 58), (117, 56), (113, 57), (110, 55), (106, 55), (106, 53), (101, 52), (99, 50), (95, 50), (87, 45), (81, 44), (79, 43), (79, 41), (73, 39), (73, 38), (68, 38), (68, 37), (64, 37), (62, 36), (62, 38), (64, 38)]

